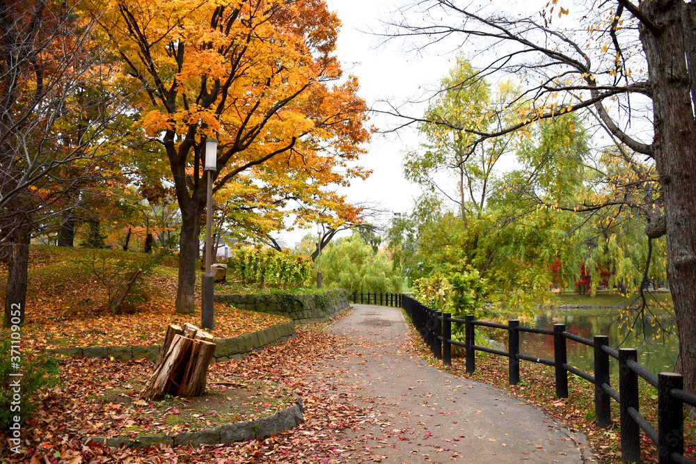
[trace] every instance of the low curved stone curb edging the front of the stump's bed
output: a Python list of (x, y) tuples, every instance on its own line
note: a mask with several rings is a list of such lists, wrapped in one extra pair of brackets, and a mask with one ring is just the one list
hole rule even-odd
[[(286, 387), (287, 388), (287, 387)], [(294, 429), (304, 421), (304, 408), (302, 400), (295, 392), (294, 405), (280, 410), (277, 414), (254, 419), (237, 424), (221, 425), (219, 429), (204, 429), (195, 432), (181, 432), (177, 435), (140, 435), (133, 440), (125, 437), (106, 438), (102, 436), (88, 437), (83, 444), (89, 442), (101, 443), (109, 447), (134, 447), (141, 449), (152, 445), (188, 445), (199, 447), (200, 445), (230, 445), (233, 442), (245, 442), (249, 440), (265, 440), (272, 434), (278, 434), (286, 430)]]

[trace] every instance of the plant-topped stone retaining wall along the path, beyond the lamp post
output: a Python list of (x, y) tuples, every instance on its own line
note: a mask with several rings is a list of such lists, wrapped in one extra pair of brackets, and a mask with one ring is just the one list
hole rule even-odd
[(315, 323), (349, 309), (348, 296), (347, 291), (336, 289), (322, 294), (215, 295), (215, 301), (240, 310), (278, 314), (296, 323)]

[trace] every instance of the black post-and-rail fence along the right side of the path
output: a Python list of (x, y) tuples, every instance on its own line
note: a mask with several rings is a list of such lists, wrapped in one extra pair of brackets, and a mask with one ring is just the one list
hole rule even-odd
[[(471, 315), (464, 319), (455, 319), (448, 312), (432, 310), (406, 295), (402, 297), (402, 307), (432, 353), (445, 365), (452, 364), (452, 346), (461, 346), (466, 350), (466, 371), (469, 373), (475, 371), (476, 351), (484, 351), (505, 356), (508, 359), (511, 385), (516, 385), (520, 381), (520, 361), (553, 367), (555, 390), (559, 398), (568, 397), (569, 372), (594, 384), (595, 421), (598, 427), (611, 424), (611, 400), (614, 399), (619, 403), (622, 462), (640, 463), (641, 430), (656, 444), (659, 464), (695, 462), (683, 456), (683, 408), (685, 404), (696, 407), (696, 395), (682, 390), (683, 378), (680, 374), (663, 372), (656, 376), (638, 364), (638, 353), (635, 349), (613, 349), (609, 346), (609, 337), (595, 335), (592, 340), (579, 337), (567, 332), (564, 324), (554, 324), (551, 330), (520, 326), (519, 321), (508, 321), (507, 324), (477, 321)], [(455, 325), (452, 326), (452, 324)], [(452, 339), (452, 328), (457, 328), (456, 324), (464, 324), (464, 342)], [(508, 351), (477, 346), (475, 326), (506, 330)], [(553, 359), (520, 354), (519, 334), (521, 332), (553, 337)], [(568, 340), (594, 349), (594, 375), (568, 364)], [(610, 385), (609, 371), (612, 358), (619, 362), (618, 391)], [(639, 377), (658, 390), (657, 430), (638, 412)]]

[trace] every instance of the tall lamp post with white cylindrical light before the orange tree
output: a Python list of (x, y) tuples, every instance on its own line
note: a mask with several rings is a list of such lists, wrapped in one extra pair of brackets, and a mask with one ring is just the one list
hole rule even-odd
[(212, 243), (213, 228), (213, 173), (217, 170), (217, 140), (205, 139), (205, 163), (203, 170), (207, 174), (207, 205), (205, 207), (205, 273), (201, 280), (200, 289), (200, 325), (207, 330), (213, 329), (213, 284), (214, 275), (210, 272), (212, 256), (210, 246)]

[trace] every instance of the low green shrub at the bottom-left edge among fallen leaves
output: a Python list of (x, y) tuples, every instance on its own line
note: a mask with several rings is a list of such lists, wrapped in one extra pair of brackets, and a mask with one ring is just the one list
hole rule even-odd
[[(8, 335), (8, 336), (5, 336)], [(29, 417), (36, 408), (34, 394), (42, 387), (58, 383), (58, 362), (47, 355), (33, 355), (31, 360), (27, 353), (19, 352), (19, 369), (13, 366), (13, 353), (10, 346), (9, 333), (0, 339), (0, 429), (7, 431), (14, 424), (14, 417), (21, 422)], [(15, 349), (16, 350), (16, 349)], [(22, 376), (10, 376), (21, 373)], [(19, 379), (19, 400), (15, 399), (13, 383)]]

